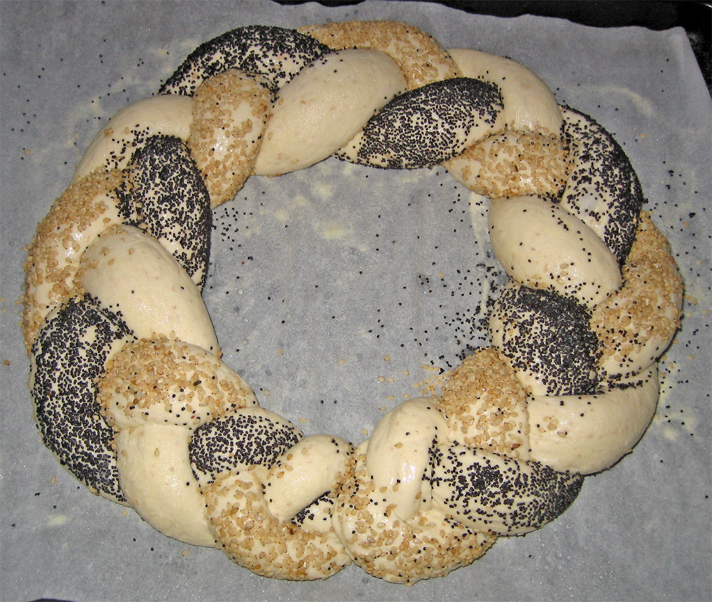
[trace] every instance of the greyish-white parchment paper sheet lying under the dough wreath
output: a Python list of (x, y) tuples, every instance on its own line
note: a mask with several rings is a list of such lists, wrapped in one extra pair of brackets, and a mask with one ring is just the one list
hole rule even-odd
[[(711, 105), (684, 31), (407, 2), (3, 2), (0, 11), (3, 600), (711, 599)], [(446, 47), (535, 70), (623, 145), (686, 281), (658, 411), (633, 453), (587, 478), (544, 529), (412, 588), (355, 566), (317, 583), (264, 579), (94, 497), (41, 443), (18, 327), (23, 245), (108, 117), (231, 28), (345, 19), (409, 21)], [(360, 442), (386, 409), (485, 344), (489, 282), (501, 282), (486, 208), (441, 168), (329, 159), (250, 179), (214, 215), (204, 298), (224, 359), (306, 434)]]

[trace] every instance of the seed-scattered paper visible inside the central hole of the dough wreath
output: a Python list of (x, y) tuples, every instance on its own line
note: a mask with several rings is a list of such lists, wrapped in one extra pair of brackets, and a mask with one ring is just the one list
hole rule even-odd
[(305, 433), (362, 440), (486, 344), (486, 206), (442, 168), (248, 179), (213, 213), (203, 297), (224, 361)]

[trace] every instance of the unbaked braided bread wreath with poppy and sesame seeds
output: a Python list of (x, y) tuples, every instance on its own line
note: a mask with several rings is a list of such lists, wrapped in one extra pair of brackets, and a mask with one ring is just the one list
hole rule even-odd
[[(444, 164), (509, 276), (491, 347), (355, 449), (221, 361), (211, 209), (335, 155)], [(120, 111), (39, 224), (23, 332), (46, 446), (90, 490), (263, 576), (444, 576), (563, 512), (653, 416), (682, 282), (621, 147), (529, 70), (386, 21), (250, 26)]]

